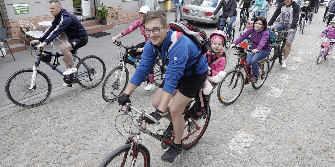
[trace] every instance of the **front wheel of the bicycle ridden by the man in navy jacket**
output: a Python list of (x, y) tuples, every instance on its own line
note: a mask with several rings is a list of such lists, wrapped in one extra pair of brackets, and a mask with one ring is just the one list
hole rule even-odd
[(22, 69), (8, 78), (5, 92), (8, 99), (16, 106), (32, 108), (41, 105), (49, 98), (52, 90), (49, 77), (37, 70), (36, 84), (29, 90), (32, 74), (32, 69)]

